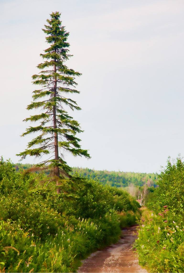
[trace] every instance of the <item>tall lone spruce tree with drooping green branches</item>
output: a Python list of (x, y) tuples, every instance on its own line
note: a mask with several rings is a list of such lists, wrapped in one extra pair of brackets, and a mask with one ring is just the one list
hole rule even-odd
[[(74, 100), (68, 98), (70, 93), (80, 93), (75, 89), (77, 85), (75, 77), (80, 76), (81, 73), (69, 69), (65, 64), (72, 55), (68, 54), (69, 32), (62, 26), (60, 15), (61, 13), (57, 11), (51, 13), (50, 20), (47, 19), (48, 25), (44, 25), (45, 29), (42, 29), (47, 35), (49, 48), (44, 50), (44, 54), (40, 54), (44, 60), (37, 66), (41, 70), (40, 73), (32, 76), (33, 84), (42, 87), (33, 91), (33, 102), (27, 106), (27, 109), (41, 108), (41, 114), (31, 115), (24, 121), (40, 121), (40, 123), (35, 127), (27, 128), (22, 136), (35, 132), (38, 134), (28, 143), (28, 149), (17, 154), (22, 160), (27, 155), (40, 157), (51, 153), (49, 159), (37, 166), (48, 166), (56, 179), (56, 185), (59, 184), (59, 177), (70, 177), (71, 171), (71, 167), (64, 161), (61, 149), (69, 151), (74, 156), (90, 158), (88, 150), (81, 148), (80, 139), (76, 137), (76, 133), (83, 132), (80, 124), (66, 110), (68, 106), (71, 110), (81, 110)], [(59, 187), (57, 191), (59, 192)]]

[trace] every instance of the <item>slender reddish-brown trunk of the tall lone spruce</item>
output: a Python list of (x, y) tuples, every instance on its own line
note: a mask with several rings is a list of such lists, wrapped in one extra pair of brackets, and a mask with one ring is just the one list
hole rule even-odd
[[(56, 50), (55, 50), (56, 52)], [(56, 61), (56, 60), (55, 60)], [(54, 72), (56, 73), (56, 65), (54, 65)], [(54, 97), (56, 97), (56, 91), (57, 91), (57, 78), (55, 77), (54, 79)], [(53, 125), (54, 125), (54, 129), (57, 128), (57, 122), (56, 122), (56, 106), (53, 106)], [(55, 160), (59, 160), (59, 152), (58, 152), (58, 133), (54, 132), (54, 152), (55, 152)], [(55, 176), (59, 177), (59, 167), (56, 166), (54, 168), (54, 173)], [(56, 180), (56, 185), (59, 185), (58, 182), (59, 179)], [(60, 189), (57, 188), (57, 193), (60, 193)]]

